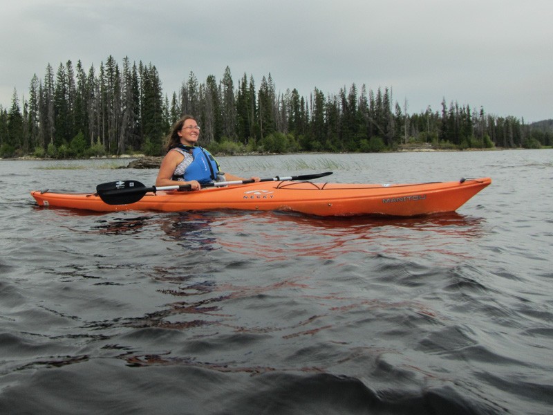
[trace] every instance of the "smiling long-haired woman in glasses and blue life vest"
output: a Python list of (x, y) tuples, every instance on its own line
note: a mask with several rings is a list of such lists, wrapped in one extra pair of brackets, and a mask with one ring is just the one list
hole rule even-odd
[[(163, 158), (156, 178), (156, 186), (190, 185), (200, 190), (200, 183), (210, 181), (243, 180), (219, 171), (218, 163), (202, 147), (196, 147), (200, 127), (192, 116), (178, 120), (167, 137), (167, 154)], [(252, 177), (259, 181), (259, 177)]]

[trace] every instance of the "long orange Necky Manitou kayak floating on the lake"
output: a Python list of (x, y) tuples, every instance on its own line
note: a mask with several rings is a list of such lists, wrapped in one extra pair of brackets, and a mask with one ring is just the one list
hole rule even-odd
[(194, 192), (147, 192), (140, 201), (109, 205), (95, 193), (34, 190), (38, 205), (115, 212), (120, 210), (281, 210), (317, 216), (418, 216), (453, 212), (491, 183), (491, 178), (417, 184), (341, 184), (310, 181), (258, 182)]

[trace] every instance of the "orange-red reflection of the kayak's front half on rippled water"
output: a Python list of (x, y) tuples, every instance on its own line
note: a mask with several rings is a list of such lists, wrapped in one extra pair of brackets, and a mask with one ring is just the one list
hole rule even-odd
[[(218, 243), (229, 251), (272, 261), (297, 256), (334, 259), (354, 252), (404, 258), (435, 253), (449, 255), (455, 260), (472, 257), (475, 252), (466, 242), (482, 235), (482, 219), (456, 213), (411, 219), (321, 220), (268, 212), (250, 215), (247, 220), (246, 232), (241, 214), (227, 215), (224, 220), (217, 221)], [(459, 246), (466, 252), (458, 250)]]

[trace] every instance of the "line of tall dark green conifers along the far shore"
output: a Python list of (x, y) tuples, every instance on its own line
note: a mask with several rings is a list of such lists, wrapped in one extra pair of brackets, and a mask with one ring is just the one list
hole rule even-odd
[(77, 62), (46, 66), (34, 75), (28, 97), (14, 91), (9, 109), (0, 105), (0, 157), (72, 158), (126, 153), (160, 155), (171, 124), (196, 116), (201, 143), (214, 153), (295, 151), (389, 151), (412, 143), (438, 149), (539, 148), (553, 142), (551, 131), (534, 129), (514, 116), (442, 100), (409, 114), (407, 102), (393, 102), (391, 89), (338, 93), (315, 88), (275, 89), (270, 73), (259, 86), (244, 73), (235, 86), (227, 66), (221, 80), (200, 82), (190, 72), (179, 91), (167, 95), (156, 66), (118, 64), (112, 56), (88, 71)]

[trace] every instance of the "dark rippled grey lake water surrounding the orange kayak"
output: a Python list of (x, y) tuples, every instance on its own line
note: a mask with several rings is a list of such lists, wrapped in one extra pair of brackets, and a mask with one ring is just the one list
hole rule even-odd
[(39, 208), (156, 170), (0, 161), (1, 414), (550, 414), (553, 151), (219, 158), (342, 183), (491, 176), (455, 214)]

